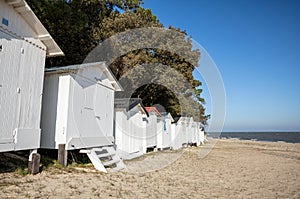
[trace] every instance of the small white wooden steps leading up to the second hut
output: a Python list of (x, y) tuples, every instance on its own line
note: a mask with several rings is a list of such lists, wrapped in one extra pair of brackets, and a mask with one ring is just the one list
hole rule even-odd
[(80, 153), (86, 153), (98, 171), (107, 173), (126, 169), (113, 146), (82, 149)]

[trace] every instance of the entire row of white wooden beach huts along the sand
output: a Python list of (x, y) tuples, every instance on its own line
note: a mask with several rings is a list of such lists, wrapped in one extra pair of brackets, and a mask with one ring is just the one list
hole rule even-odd
[(26, 1), (0, 0), (0, 20), (0, 152), (30, 150), (33, 172), (39, 148), (58, 149), (62, 164), (81, 150), (106, 171), (149, 149), (204, 142), (190, 117), (175, 123), (140, 99), (115, 99), (122, 87), (104, 62), (45, 69), (63, 52)]

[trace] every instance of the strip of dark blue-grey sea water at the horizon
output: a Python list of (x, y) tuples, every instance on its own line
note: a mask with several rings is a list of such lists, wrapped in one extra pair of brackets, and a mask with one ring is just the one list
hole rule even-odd
[(300, 143), (300, 132), (222, 132), (221, 135), (219, 133), (207, 133), (207, 136), (213, 138)]

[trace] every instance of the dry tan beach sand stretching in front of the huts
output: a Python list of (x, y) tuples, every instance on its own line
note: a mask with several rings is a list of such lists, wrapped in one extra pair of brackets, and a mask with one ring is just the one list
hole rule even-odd
[(128, 172), (0, 173), (0, 198), (300, 198), (300, 144), (217, 140), (211, 151), (210, 145), (150, 153), (128, 161)]

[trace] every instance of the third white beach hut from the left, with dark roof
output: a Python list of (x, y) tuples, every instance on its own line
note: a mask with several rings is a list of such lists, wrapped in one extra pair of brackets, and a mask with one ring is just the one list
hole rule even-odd
[(123, 159), (146, 153), (148, 116), (141, 99), (115, 99), (115, 144)]

